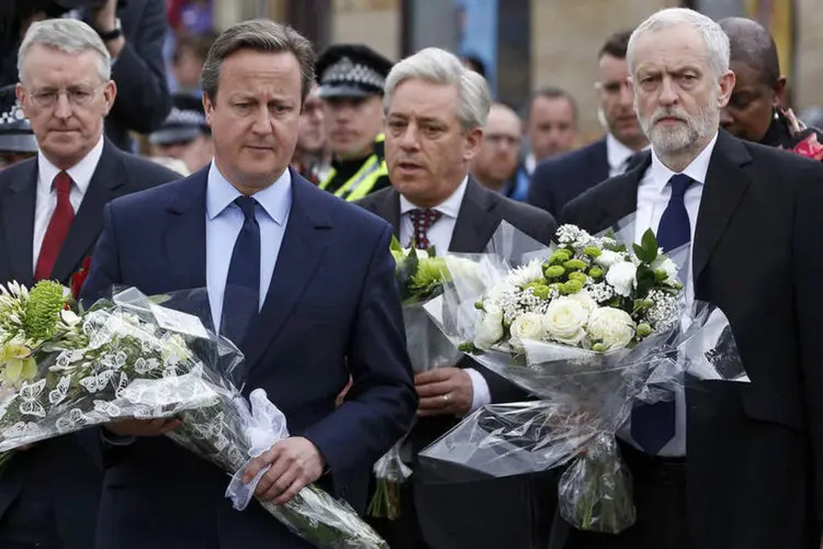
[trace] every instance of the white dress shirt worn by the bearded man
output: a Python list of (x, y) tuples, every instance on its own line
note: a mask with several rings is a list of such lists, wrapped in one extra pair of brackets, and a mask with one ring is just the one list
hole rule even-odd
[[(702, 152), (683, 170), (681, 173), (689, 176), (695, 182), (686, 190), (684, 200), (686, 202), (686, 211), (689, 215), (689, 224), (691, 225), (691, 239), (695, 242), (695, 228), (697, 226), (697, 215), (700, 210), (700, 198), (703, 194), (703, 184), (706, 183), (706, 173), (709, 171), (709, 161), (711, 160), (711, 154), (714, 150), (714, 144), (718, 141), (717, 134), (712, 137), (711, 142), (703, 148)], [(674, 176), (675, 172), (668, 169), (657, 157), (652, 149), (652, 164), (646, 170), (643, 179), (640, 181), (638, 187), (638, 210), (636, 210), (636, 226), (634, 238), (640, 243), (643, 233), (650, 227), (657, 232), (657, 227), (663, 217), (663, 212), (668, 205), (668, 201), (672, 198), (672, 186), (668, 184), (668, 180)], [(691, 265), (691, 251), (689, 249), (689, 256), (687, 260), (687, 273), (686, 273), (686, 302), (691, 303), (695, 298), (695, 283), (692, 280), (692, 265)], [(686, 397), (684, 392), (675, 392), (676, 401), (676, 427), (675, 437), (668, 441), (666, 446), (659, 451), (659, 456), (664, 457), (683, 457), (686, 455)], [(621, 438), (631, 440), (631, 422), (627, 422), (624, 428), (621, 430)], [(635, 445), (636, 446), (636, 445)]]

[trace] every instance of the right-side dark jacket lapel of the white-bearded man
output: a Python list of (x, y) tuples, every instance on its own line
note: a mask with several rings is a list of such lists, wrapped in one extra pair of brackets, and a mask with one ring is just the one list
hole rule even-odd
[(748, 189), (751, 178), (742, 169), (752, 156), (734, 137), (720, 131), (706, 175), (695, 229), (692, 280), (698, 280), (729, 221)]

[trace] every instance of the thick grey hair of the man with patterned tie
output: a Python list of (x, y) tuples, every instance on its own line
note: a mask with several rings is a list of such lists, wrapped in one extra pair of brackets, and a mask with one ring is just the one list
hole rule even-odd
[(454, 54), (438, 47), (420, 49), (392, 68), (383, 96), (386, 114), (397, 86), (413, 79), (458, 87), (460, 104), (456, 114), (463, 132), (486, 125), (492, 107), (492, 92), (486, 79), (466, 68)]

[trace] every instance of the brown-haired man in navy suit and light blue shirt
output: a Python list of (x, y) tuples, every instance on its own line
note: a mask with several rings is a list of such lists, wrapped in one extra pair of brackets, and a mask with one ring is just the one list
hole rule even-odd
[[(246, 392), (264, 389), (289, 421), (292, 436), (247, 469), (248, 480), (271, 466), (256, 495), (282, 505), (316, 482), (362, 512), (370, 468), (410, 426), (417, 396), (392, 227), (289, 168), (313, 67), (312, 44), (290, 27), (223, 33), (202, 76), (214, 161), (109, 205), (83, 296), (206, 288), (211, 324), (245, 354)], [(98, 548), (311, 547), (256, 502), (234, 511), (225, 472), (158, 436), (177, 425), (100, 432)]]

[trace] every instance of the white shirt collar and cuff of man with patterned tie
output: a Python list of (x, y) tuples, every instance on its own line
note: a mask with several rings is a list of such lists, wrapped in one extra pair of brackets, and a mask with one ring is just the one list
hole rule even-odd
[[(442, 214), (442, 216), (436, 221), (431, 228), (427, 232), (429, 238), (429, 247), (435, 247), (437, 255), (444, 255), (449, 250), (451, 245), (451, 237), (454, 234), (454, 225), (458, 222), (458, 214), (460, 213), (460, 206), (463, 204), (463, 197), (465, 195), (465, 188), (469, 184), (469, 177), (463, 178), (463, 182), (452, 193), (451, 197), (446, 199), (440, 205), (431, 208)], [(412, 216), (409, 212), (418, 210), (418, 208), (409, 202), (406, 197), (401, 194), (401, 243), (403, 246), (408, 246), (412, 240), (412, 236), (415, 234), (414, 224), (412, 223)], [(464, 371), (472, 378), (472, 410), (474, 412), (478, 407), (492, 402), (492, 394), (488, 390), (488, 383), (485, 378), (474, 368), (465, 368)]]

